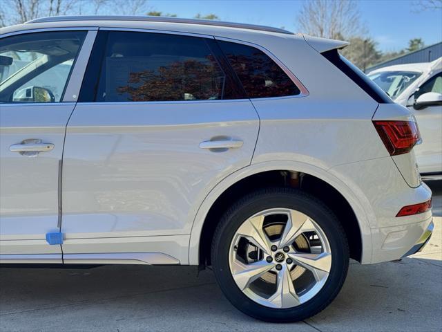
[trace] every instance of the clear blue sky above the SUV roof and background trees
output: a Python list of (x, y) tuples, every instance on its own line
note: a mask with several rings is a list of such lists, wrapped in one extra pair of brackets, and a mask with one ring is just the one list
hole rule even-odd
[[(425, 45), (442, 42), (442, 10), (418, 10), (419, 0), (359, 0), (361, 21), (378, 48), (398, 51), (412, 38), (422, 38)], [(194, 17), (215, 14), (222, 21), (284, 27), (302, 33), (296, 24), (302, 7), (300, 0), (151, 0), (151, 10)]]

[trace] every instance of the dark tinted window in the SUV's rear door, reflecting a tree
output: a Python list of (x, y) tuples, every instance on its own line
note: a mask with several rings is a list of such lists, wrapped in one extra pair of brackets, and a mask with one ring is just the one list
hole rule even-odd
[(204, 38), (113, 31), (96, 101), (218, 100), (225, 81)]

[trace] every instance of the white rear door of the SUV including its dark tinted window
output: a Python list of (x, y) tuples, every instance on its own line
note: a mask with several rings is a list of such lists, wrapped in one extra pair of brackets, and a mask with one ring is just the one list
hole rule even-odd
[(100, 29), (66, 132), (65, 263), (162, 252), (186, 264), (200, 203), (256, 145), (237, 80), (213, 37)]

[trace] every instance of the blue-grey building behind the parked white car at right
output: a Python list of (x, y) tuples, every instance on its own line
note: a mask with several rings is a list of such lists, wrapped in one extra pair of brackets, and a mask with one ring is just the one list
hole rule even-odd
[(374, 71), (378, 68), (383, 68), (387, 66), (393, 66), (394, 64), (415, 64), (418, 62), (432, 62), (435, 59), (442, 57), (442, 42), (426, 46), (420, 50), (414, 50), (413, 52), (394, 57), (393, 59), (381, 62), (380, 64), (375, 64), (366, 69), (366, 73)]

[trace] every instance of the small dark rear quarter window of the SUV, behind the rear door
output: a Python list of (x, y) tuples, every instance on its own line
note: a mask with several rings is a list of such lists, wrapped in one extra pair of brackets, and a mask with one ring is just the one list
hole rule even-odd
[(298, 86), (280, 66), (258, 48), (231, 42), (218, 44), (249, 98), (282, 97), (300, 93)]

